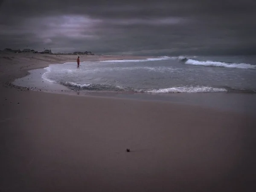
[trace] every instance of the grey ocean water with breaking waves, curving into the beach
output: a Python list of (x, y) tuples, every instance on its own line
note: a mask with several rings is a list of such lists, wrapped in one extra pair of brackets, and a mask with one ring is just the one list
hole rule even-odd
[(71, 90), (134, 93), (256, 93), (255, 56), (161, 56), (52, 64), (42, 78)]

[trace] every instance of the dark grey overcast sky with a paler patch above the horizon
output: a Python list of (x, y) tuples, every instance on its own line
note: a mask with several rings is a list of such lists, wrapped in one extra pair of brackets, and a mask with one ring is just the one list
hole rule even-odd
[(0, 0), (0, 49), (256, 54), (256, 0)]

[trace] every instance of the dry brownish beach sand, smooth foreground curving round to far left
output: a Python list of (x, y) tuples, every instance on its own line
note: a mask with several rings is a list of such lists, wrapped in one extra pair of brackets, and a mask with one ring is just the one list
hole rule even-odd
[(255, 116), (6, 87), (76, 59), (32, 56), (0, 58), (1, 192), (254, 191)]

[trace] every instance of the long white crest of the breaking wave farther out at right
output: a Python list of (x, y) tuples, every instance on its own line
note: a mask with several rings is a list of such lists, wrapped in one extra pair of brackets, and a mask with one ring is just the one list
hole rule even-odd
[(256, 69), (256, 65), (245, 64), (245, 63), (225, 63), (220, 61), (198, 61), (195, 59), (188, 59), (185, 64), (189, 65), (203, 65), (203, 66), (213, 66), (213, 67), (227, 67), (227, 68), (237, 68), (237, 69)]

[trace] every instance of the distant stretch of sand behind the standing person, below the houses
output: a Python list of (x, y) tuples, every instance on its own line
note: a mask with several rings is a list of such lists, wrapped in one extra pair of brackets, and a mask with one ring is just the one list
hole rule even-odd
[[(17, 55), (18, 54), (18, 55)], [(64, 64), (67, 62), (76, 62), (76, 58), (80, 56), (80, 62), (83, 61), (107, 61), (107, 60), (122, 60), (122, 59), (143, 59), (155, 58), (152, 56), (133, 56), (133, 55), (54, 55), (54, 54), (40, 54), (40, 53), (0, 53), (0, 83), (5, 81), (14, 81), (29, 75), (29, 70), (43, 69), (49, 67), (50, 64)], [(99, 59), (101, 58), (101, 59)], [(23, 59), (23, 60), (22, 60)], [(35, 63), (32, 63), (35, 60)], [(7, 66), (2, 64), (20, 65), (19, 70), (15, 66), (15, 72), (11, 72)], [(3, 73), (9, 74), (3, 74)], [(11, 75), (10, 75), (11, 74)]]

